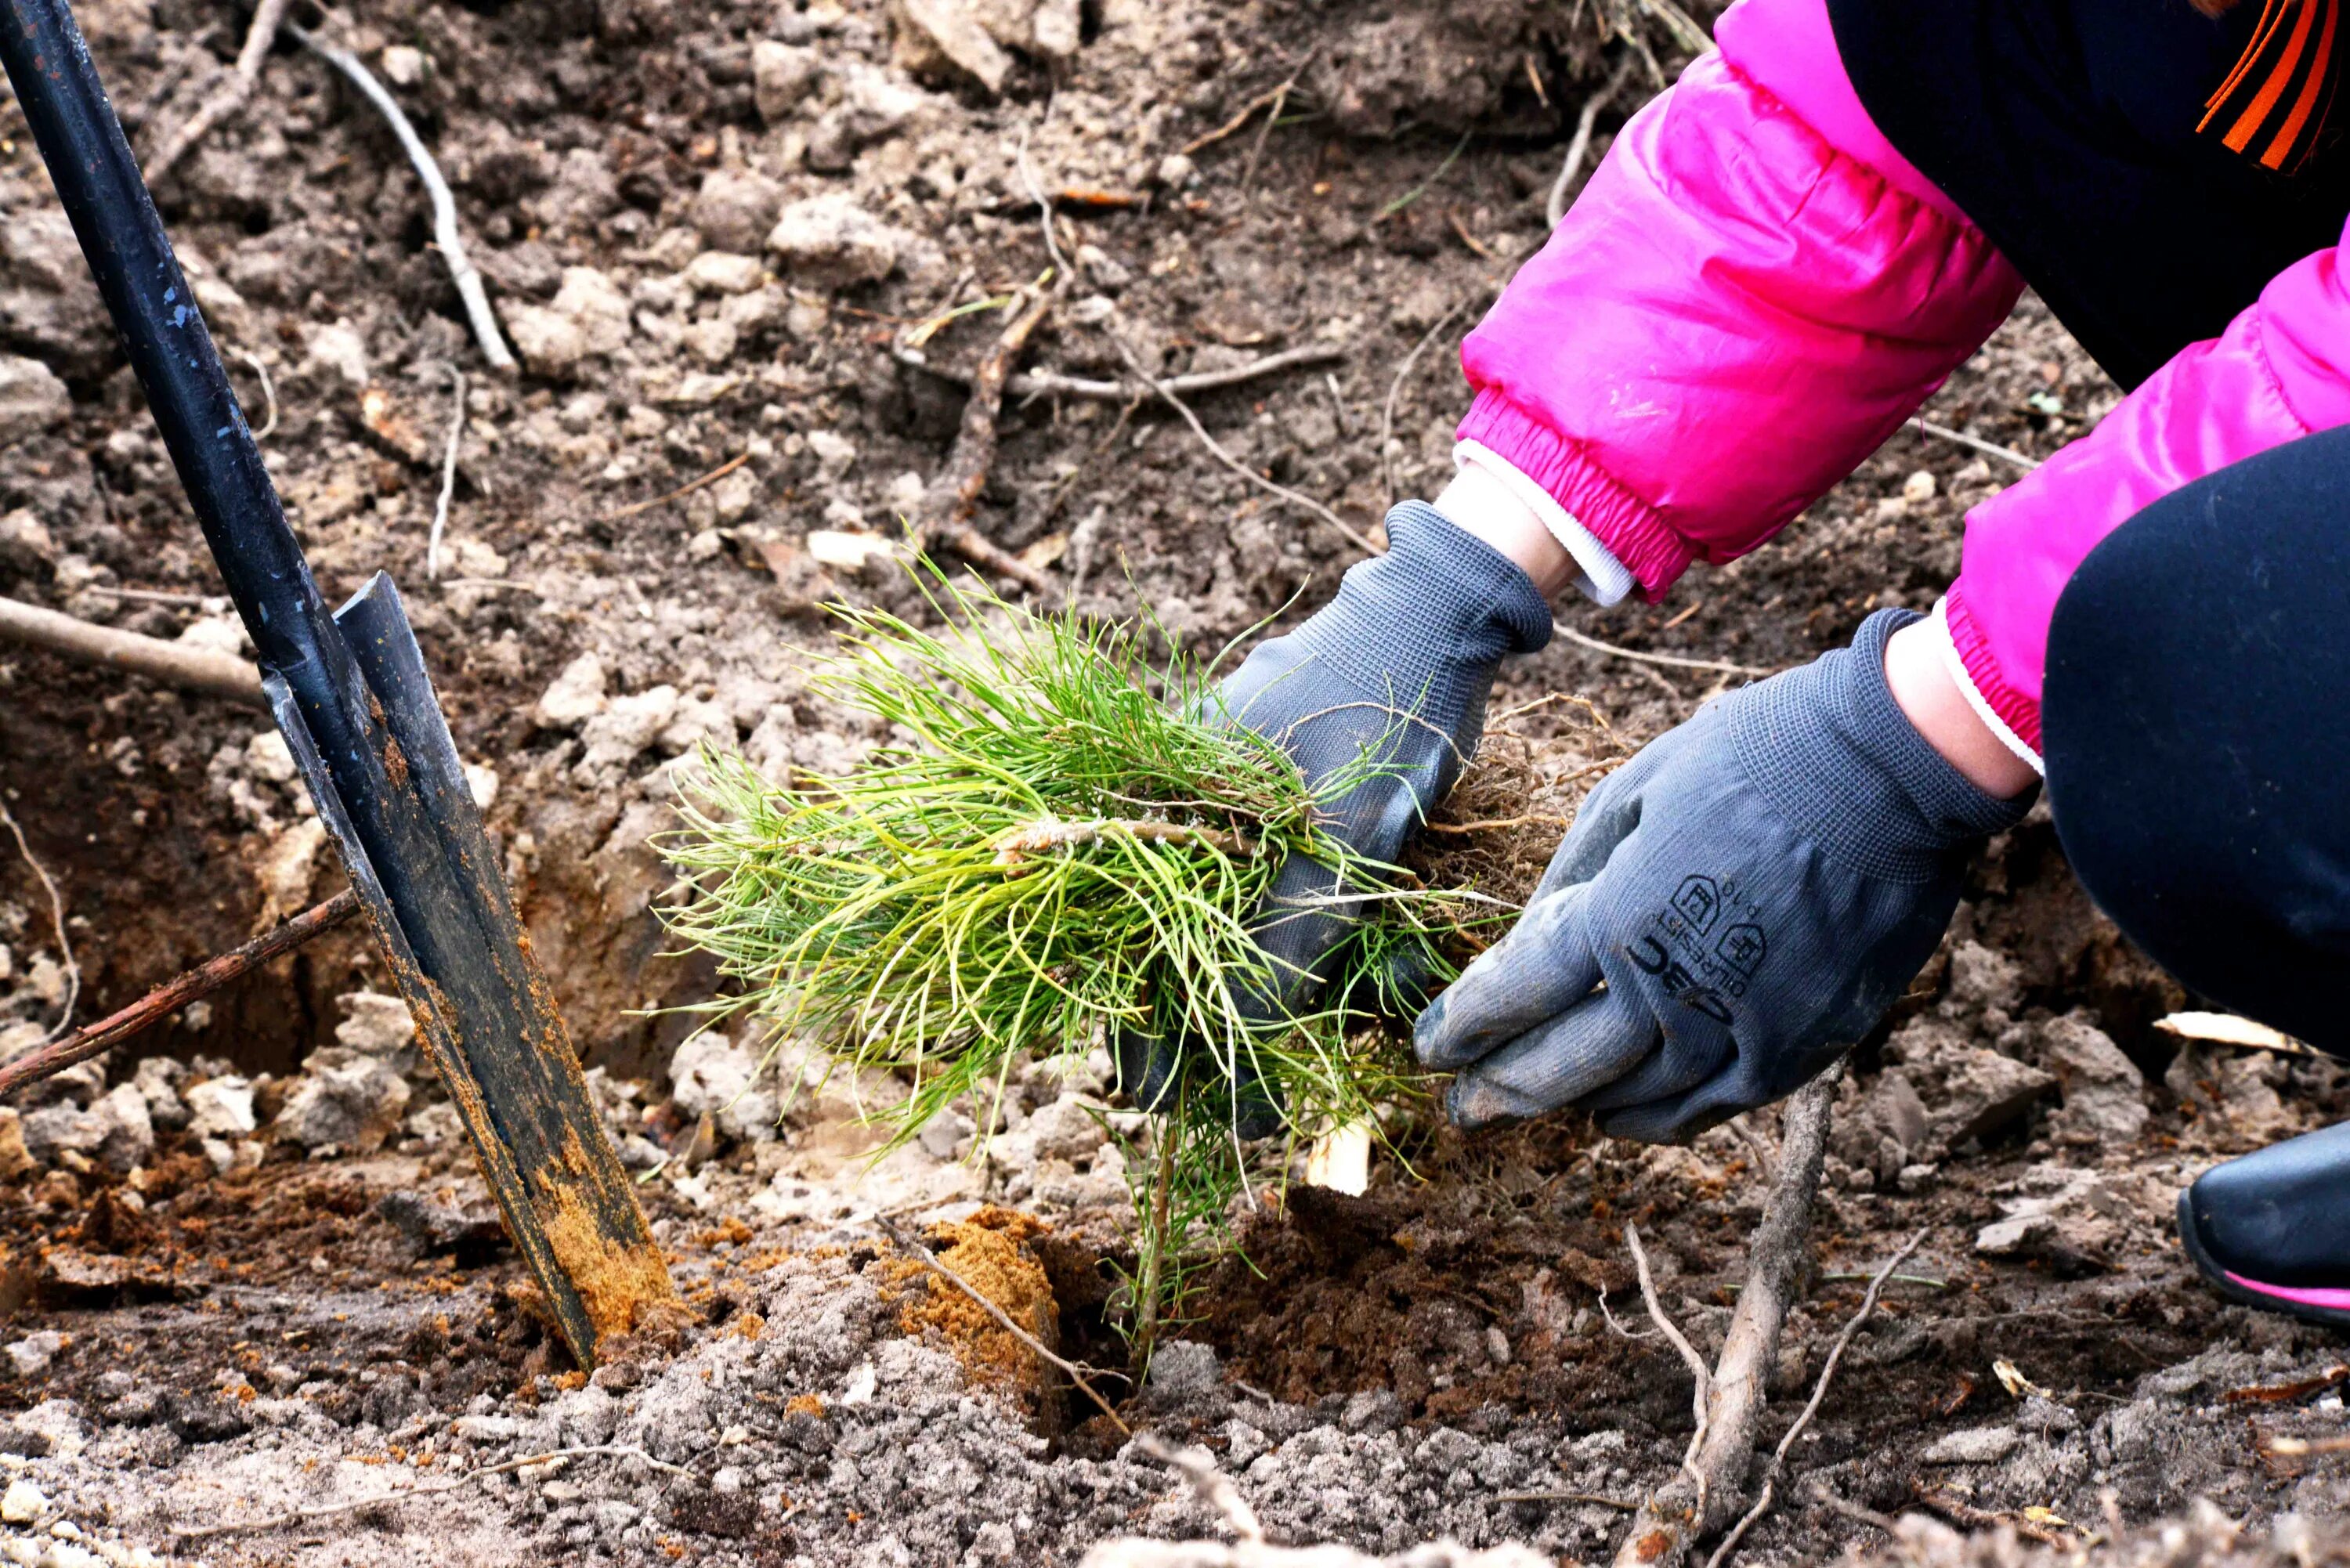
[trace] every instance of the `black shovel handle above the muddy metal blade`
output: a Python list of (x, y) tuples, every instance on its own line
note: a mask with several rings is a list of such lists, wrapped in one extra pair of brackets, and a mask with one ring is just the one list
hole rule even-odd
[(327, 705), (348, 656), (66, 0), (0, 0), (0, 63), (266, 670)]

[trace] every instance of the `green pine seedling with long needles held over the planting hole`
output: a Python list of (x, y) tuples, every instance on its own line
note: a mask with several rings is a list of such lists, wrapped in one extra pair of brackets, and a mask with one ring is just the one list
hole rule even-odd
[[(1391, 867), (1321, 825), (1321, 802), (1363, 773), (1307, 788), (1274, 741), (1224, 722), (1213, 670), (1180, 644), (1152, 661), (1147, 628), (949, 585), (933, 604), (942, 632), (837, 611), (815, 686), (888, 726), (855, 771), (776, 783), (736, 752), (698, 755), (665, 842), (696, 893), (670, 924), (731, 983), (707, 1011), (907, 1084), (874, 1107), (891, 1147), (966, 1095), (992, 1124), (1027, 1056), (1083, 1058), (1126, 1030), (1180, 1041), (1184, 1088), (1137, 1192), (1147, 1354), (1180, 1258), (1222, 1232), (1243, 1182), (1238, 1110), (1215, 1086), (1238, 1072), (1309, 1133), (1368, 1117), (1408, 1070), (1391, 1046), (1349, 1046), (1349, 1006), (1377, 1006), (1398, 959), (1450, 978), (1457, 938), (1492, 910), (1384, 886)], [(1349, 905), (1342, 1001), (1262, 1023), (1236, 999), (1276, 978), (1250, 917), (1288, 856), (1370, 896)]]

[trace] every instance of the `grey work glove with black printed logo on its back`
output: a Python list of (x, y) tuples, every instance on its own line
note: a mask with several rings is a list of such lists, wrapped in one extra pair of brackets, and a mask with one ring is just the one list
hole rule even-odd
[(1462, 1126), (1560, 1105), (1678, 1140), (1800, 1088), (1925, 966), (2030, 809), (1934, 752), (1854, 644), (1701, 708), (1584, 802), (1511, 933), (1412, 1034)]

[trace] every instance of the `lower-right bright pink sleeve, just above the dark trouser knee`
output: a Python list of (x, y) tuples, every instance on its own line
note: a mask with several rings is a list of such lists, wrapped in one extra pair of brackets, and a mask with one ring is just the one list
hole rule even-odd
[(2289, 266), (2228, 331), (2181, 350), (2096, 430), (1967, 517), (1943, 616), (1988, 717), (2030, 752), (2040, 750), (2049, 616), (2082, 557), (2181, 484), (2350, 423), (2341, 256), (2336, 247)]

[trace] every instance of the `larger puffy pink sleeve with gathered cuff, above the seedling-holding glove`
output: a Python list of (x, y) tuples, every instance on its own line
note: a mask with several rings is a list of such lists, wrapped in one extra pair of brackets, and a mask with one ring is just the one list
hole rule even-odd
[(1462, 348), (1459, 428), (1659, 597), (1849, 475), (2014, 308), (1868, 120), (1826, 0), (1739, 0)]

